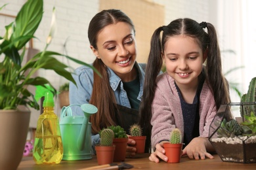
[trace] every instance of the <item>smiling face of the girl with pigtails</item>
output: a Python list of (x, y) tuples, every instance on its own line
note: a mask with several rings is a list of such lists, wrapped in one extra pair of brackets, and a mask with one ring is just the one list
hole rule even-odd
[(186, 35), (169, 37), (163, 55), (166, 71), (175, 79), (177, 86), (198, 86), (198, 76), (202, 72), (205, 58), (196, 39)]

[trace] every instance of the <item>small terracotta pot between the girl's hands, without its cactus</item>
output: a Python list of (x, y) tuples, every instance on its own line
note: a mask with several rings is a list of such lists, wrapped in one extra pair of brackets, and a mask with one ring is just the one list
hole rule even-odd
[(163, 143), (165, 149), (165, 156), (168, 157), (168, 163), (179, 163), (181, 160), (181, 148), (180, 144)]

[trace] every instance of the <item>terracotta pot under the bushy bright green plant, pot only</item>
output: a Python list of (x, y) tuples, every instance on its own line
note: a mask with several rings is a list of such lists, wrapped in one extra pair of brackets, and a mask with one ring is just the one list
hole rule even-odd
[(114, 138), (113, 144), (116, 145), (114, 161), (125, 161), (128, 138)]

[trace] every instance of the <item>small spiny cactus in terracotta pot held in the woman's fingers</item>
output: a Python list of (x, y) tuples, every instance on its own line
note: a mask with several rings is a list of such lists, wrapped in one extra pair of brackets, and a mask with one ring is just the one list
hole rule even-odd
[(135, 148), (136, 153), (141, 154), (145, 151), (145, 142), (146, 142), (146, 136), (142, 136), (142, 129), (139, 126), (139, 124), (133, 124), (130, 129), (129, 133), (131, 136), (129, 136), (130, 139), (135, 140)]

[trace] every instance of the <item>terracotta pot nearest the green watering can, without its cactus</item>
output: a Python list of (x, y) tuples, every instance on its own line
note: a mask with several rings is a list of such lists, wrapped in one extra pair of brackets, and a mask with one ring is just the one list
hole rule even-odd
[(98, 165), (113, 163), (116, 146), (95, 146)]

